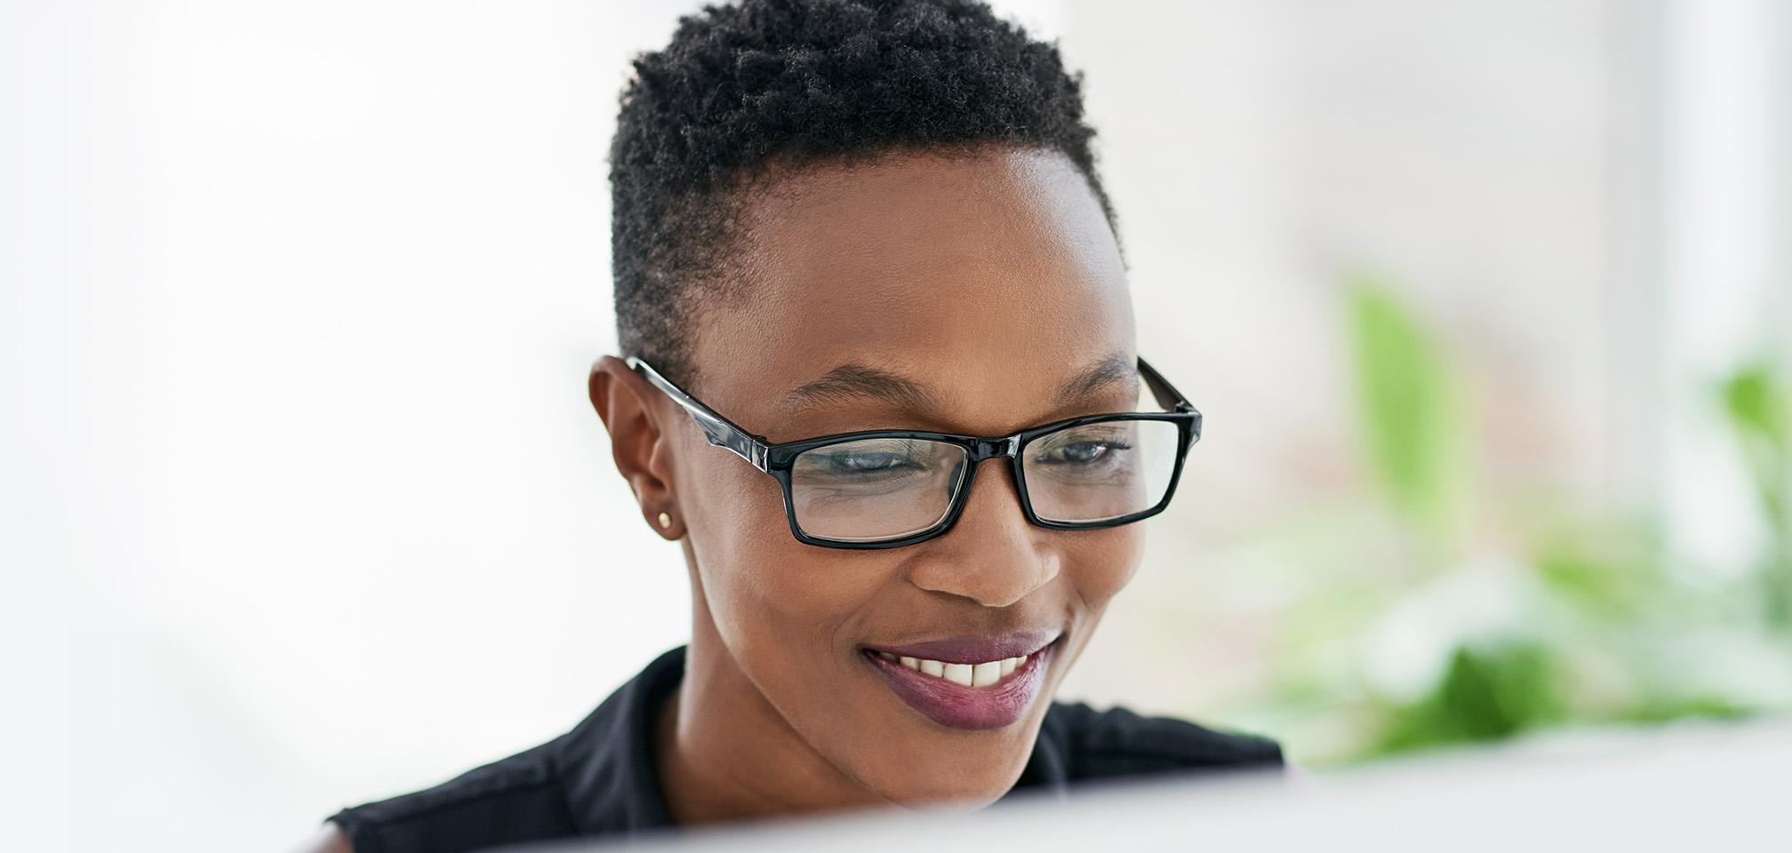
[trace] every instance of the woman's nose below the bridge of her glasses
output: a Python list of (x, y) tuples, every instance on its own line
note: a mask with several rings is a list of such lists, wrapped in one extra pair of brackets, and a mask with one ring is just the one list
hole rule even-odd
[(1034, 527), (1020, 509), (1020, 493), (1005, 459), (986, 459), (971, 478), (964, 513), (944, 536), (930, 539), (910, 564), (909, 581), (923, 590), (1005, 607), (1057, 577), (1061, 557), (1048, 547), (1052, 530)]

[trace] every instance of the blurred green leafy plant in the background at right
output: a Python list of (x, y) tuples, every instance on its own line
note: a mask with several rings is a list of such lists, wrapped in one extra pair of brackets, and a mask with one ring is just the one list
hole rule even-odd
[[(1792, 407), (1769, 360), (1720, 387), (1772, 539), (1762, 584), (1738, 593), (1676, 566), (1654, 520), (1586, 518), (1548, 489), (1482, 493), (1469, 387), (1444, 348), (1374, 280), (1351, 283), (1348, 323), (1394, 545), (1308, 552), (1403, 566), (1317, 572), (1290, 607), (1258, 717), (1290, 733), (1299, 760), (1792, 704), (1792, 643), (1772, 636), (1792, 624)], [(1342, 527), (1376, 529), (1362, 521)], [(1736, 602), (1760, 600), (1738, 620), (1749, 607)]]

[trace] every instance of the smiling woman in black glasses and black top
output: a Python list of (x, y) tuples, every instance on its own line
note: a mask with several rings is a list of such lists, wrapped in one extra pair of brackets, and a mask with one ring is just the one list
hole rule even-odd
[(634, 68), (611, 149), (629, 358), (590, 396), (685, 552), (690, 645), (561, 738), (339, 812), (315, 849), (1279, 765), (1052, 701), (1199, 434), (1138, 358), (1081, 75), (971, 0), (708, 7)]

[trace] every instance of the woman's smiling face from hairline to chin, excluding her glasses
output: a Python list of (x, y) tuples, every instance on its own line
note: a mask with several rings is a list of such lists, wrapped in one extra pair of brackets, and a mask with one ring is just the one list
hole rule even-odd
[[(745, 296), (699, 319), (692, 391), (749, 432), (1007, 435), (1138, 405), (1120, 254), (1061, 154), (806, 168), (753, 201), (745, 226)], [(670, 500), (697, 618), (776, 715), (894, 803), (1009, 790), (1064, 670), (1138, 566), (1142, 527), (1029, 525), (1007, 462), (991, 459), (944, 536), (803, 545), (778, 482), (661, 403), (679, 423)], [(880, 651), (941, 663), (1038, 654), (964, 688), (900, 672)]]

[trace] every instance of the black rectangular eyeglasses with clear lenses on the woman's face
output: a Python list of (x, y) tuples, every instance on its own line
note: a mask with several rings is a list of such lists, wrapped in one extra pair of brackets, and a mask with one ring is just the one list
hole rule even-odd
[(710, 444), (772, 475), (797, 541), (826, 548), (896, 548), (932, 539), (964, 513), (977, 462), (1004, 457), (1027, 521), (1054, 530), (1118, 527), (1163, 513), (1201, 439), (1201, 412), (1156, 369), (1138, 373), (1165, 412), (1088, 414), (982, 437), (864, 430), (771, 444), (629, 357), (690, 412)]

